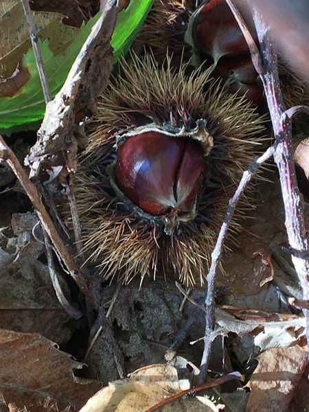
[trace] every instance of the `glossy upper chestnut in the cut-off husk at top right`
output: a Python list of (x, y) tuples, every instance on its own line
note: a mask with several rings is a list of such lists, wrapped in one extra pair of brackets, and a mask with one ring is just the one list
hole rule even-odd
[(192, 26), (194, 45), (217, 62), (222, 56), (249, 54), (242, 31), (225, 0), (210, 0), (201, 7)]

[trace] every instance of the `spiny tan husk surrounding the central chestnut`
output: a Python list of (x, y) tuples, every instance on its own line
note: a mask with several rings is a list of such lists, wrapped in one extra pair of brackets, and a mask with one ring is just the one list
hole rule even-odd
[[(203, 284), (229, 198), (260, 150), (263, 119), (243, 98), (210, 80), (208, 71), (196, 69), (187, 77), (185, 65), (174, 70), (168, 58), (159, 67), (149, 55), (122, 60), (121, 65), (122, 76), (114, 78), (102, 95), (87, 155), (76, 176), (84, 251), (106, 278), (116, 276), (127, 283), (136, 275), (142, 280), (163, 274), (187, 286)], [(198, 119), (207, 121), (214, 138), (207, 158), (211, 180), (201, 194), (195, 220), (181, 223), (168, 236), (162, 225), (137, 216), (117, 198), (106, 165), (115, 159), (117, 137), (128, 130), (147, 122), (190, 129)], [(230, 233), (238, 229), (238, 218), (248, 207), (244, 198)]]

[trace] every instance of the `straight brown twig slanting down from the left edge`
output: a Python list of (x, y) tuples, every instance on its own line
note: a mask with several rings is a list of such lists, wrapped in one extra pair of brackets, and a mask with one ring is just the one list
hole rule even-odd
[(7, 144), (5, 144), (5, 141), (1, 136), (0, 159), (3, 159), (4, 161), (6, 161), (6, 163), (8, 163), (8, 165), (14, 172), (16, 178), (19, 179), (19, 182), (21, 183), (25, 192), (30, 198), (30, 201), (32, 201), (32, 205), (34, 206), (34, 209), (38, 214), (38, 218), (41, 221), (43, 229), (47, 232), (50, 240), (52, 240), (54, 248), (60, 255), (69, 273), (80, 287), (80, 290), (82, 290), (82, 293), (84, 293), (84, 295), (86, 295), (88, 299), (90, 299), (90, 301), (93, 301), (93, 295), (91, 294), (87, 286), (87, 282), (84, 279), (84, 277), (82, 277), (82, 275), (80, 274), (78, 267), (71, 258), (71, 255), (67, 251), (67, 248), (65, 247), (65, 244), (62, 242), (62, 239), (58, 235), (58, 232), (54, 227), (54, 223), (52, 222), (52, 219), (50, 218), (49, 214), (47, 213), (47, 210), (45, 209), (45, 206), (43, 205), (43, 201), (41, 199), (40, 194), (38, 193), (38, 190), (36, 190), (36, 187), (34, 186), (32, 181), (30, 181), (25, 170), (23, 170), (21, 163), (19, 163), (17, 157), (14, 155), (12, 150), (7, 146)]

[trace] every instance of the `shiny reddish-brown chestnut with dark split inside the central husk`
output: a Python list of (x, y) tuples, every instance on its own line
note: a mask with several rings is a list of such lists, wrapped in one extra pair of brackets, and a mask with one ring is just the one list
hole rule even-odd
[(181, 216), (194, 209), (204, 168), (198, 141), (147, 131), (124, 141), (115, 171), (117, 185), (135, 205), (155, 216)]

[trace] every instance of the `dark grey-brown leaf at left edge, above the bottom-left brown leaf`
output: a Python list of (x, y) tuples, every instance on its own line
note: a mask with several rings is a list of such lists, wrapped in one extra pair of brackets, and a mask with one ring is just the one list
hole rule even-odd
[(0, 328), (39, 332), (61, 344), (71, 336), (69, 319), (43, 263), (12, 263), (0, 271)]

